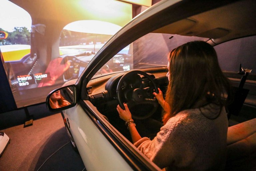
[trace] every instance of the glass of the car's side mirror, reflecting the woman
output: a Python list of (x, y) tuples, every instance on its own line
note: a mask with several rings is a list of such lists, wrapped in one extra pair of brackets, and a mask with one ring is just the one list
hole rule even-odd
[(52, 109), (58, 109), (61, 107), (68, 106), (74, 102), (73, 88), (67, 87), (55, 91), (50, 96), (50, 106)]

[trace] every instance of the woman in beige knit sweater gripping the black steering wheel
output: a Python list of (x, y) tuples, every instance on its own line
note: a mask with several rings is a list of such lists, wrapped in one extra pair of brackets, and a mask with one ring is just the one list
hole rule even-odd
[(125, 110), (117, 106), (134, 145), (166, 170), (223, 170), (228, 120), (221, 97), (230, 84), (214, 48), (203, 41), (183, 44), (169, 53), (168, 70), (165, 100), (160, 89), (154, 93), (166, 113), (153, 140), (141, 138), (126, 104)]

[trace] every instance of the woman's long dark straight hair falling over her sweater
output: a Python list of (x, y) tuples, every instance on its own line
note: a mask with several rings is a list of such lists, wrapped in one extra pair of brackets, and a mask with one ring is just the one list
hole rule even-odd
[[(214, 48), (203, 41), (185, 43), (169, 53), (170, 82), (165, 100), (170, 113), (164, 124), (178, 112), (206, 103), (224, 105), (223, 95), (230, 95), (229, 80), (222, 73)], [(203, 100), (204, 104), (199, 104)]]

